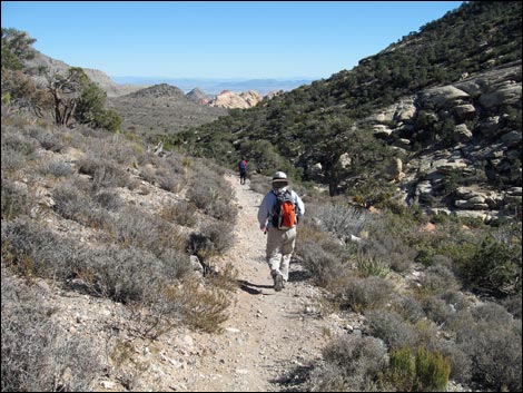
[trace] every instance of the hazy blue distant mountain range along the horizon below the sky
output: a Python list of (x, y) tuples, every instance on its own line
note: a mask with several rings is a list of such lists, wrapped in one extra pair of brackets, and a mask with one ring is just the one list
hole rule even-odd
[(313, 79), (197, 79), (197, 78), (156, 78), (156, 77), (112, 77), (118, 83), (157, 85), (168, 83), (179, 87), (185, 92), (198, 87), (208, 96), (217, 96), (224, 90), (241, 92), (256, 90), (265, 96), (270, 91), (289, 91), (299, 86), (308, 85)]

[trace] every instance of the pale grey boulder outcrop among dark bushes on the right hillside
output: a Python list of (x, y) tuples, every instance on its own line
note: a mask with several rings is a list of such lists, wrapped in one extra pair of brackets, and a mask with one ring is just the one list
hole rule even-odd
[(516, 61), (466, 76), (405, 97), (358, 125), (407, 157), (395, 180), (408, 204), (485, 220), (521, 212), (522, 130), (514, 116), (521, 114), (521, 72)]

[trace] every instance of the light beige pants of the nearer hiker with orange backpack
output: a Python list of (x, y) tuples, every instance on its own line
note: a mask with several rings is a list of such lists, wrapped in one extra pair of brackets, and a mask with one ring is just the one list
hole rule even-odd
[(295, 243), (296, 227), (286, 230), (269, 228), (267, 232), (267, 264), (272, 272), (280, 273), (285, 281), (288, 281), (288, 266)]

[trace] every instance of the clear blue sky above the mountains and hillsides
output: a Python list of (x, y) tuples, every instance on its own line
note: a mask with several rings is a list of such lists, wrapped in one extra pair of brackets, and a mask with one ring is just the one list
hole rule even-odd
[(111, 77), (328, 78), (462, 1), (2, 1), (3, 28)]

